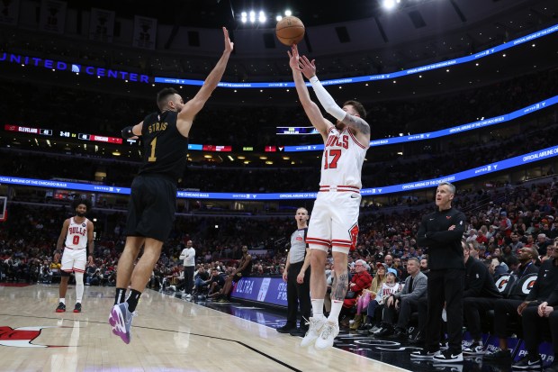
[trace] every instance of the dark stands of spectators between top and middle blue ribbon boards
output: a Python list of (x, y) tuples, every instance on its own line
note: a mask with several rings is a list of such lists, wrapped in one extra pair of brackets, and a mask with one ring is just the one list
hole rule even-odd
[[(558, 74), (547, 69), (507, 81), (464, 89), (456, 93), (420, 96), (414, 100), (366, 102), (367, 120), (373, 139), (416, 134), (477, 122), (518, 110), (556, 94)], [(57, 131), (119, 136), (121, 128), (141, 121), (156, 109), (154, 96), (125, 96), (113, 92), (96, 93), (59, 86), (37, 86), (3, 81), (0, 102), (5, 123)], [(187, 97), (186, 93), (183, 93)], [(33, 102), (21, 106), (23, 100)], [(67, 103), (71, 102), (71, 105)], [(268, 104), (243, 107), (231, 98), (228, 103), (211, 104), (196, 117), (192, 143), (254, 146), (320, 143), (320, 136), (278, 136), (278, 126), (311, 126), (298, 104)], [(18, 108), (19, 107), (19, 108)], [(90, 115), (95, 107), (94, 115)], [(223, 130), (226, 127), (227, 130)]]

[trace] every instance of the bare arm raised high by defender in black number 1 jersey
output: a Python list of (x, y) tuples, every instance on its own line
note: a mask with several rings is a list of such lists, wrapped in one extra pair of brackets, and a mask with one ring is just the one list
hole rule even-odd
[(219, 61), (211, 70), (211, 73), (205, 78), (203, 86), (200, 88), (198, 93), (190, 101), (188, 101), (184, 105), (182, 111), (178, 113), (178, 127), (183, 135), (183, 128), (180, 127), (192, 125), (193, 117), (202, 110), (203, 105), (207, 102), (211, 93), (215, 90), (221, 77), (223, 77), (223, 74), (225, 73), (225, 68), (227, 68), (227, 63), (229, 62), (230, 53), (232, 52), (234, 43), (230, 41), (229, 31), (227, 31), (225, 27), (223, 27), (223, 36), (225, 39), (225, 50), (223, 50), (223, 54), (221, 55)]

